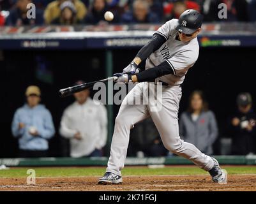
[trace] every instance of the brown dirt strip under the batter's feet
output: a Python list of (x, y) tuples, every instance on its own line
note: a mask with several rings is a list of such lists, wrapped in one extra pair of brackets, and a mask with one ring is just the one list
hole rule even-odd
[(123, 177), (121, 185), (99, 186), (98, 177), (0, 179), (0, 191), (256, 191), (256, 175), (229, 175), (226, 185), (214, 184), (207, 175)]

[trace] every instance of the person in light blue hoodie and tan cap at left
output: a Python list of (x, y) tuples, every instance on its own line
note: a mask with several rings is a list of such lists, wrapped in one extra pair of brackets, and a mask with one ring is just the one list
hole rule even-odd
[(40, 96), (39, 87), (27, 87), (27, 103), (13, 117), (11, 132), (19, 139), (20, 157), (47, 157), (48, 140), (55, 134), (52, 115), (40, 104)]

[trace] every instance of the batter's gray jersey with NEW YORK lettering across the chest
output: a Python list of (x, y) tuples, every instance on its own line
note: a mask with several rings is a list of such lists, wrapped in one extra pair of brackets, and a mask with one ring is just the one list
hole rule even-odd
[(164, 75), (156, 78), (170, 85), (180, 85), (183, 83), (189, 68), (195, 64), (199, 56), (199, 43), (197, 38), (183, 43), (176, 40), (178, 32), (176, 26), (178, 19), (172, 19), (163, 24), (156, 34), (162, 35), (167, 41), (153, 52), (146, 60), (146, 69), (153, 68), (167, 61), (174, 71), (174, 75)]

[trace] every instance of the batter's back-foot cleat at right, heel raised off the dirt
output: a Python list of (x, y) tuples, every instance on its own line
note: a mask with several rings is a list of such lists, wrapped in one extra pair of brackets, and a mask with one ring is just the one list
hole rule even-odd
[(214, 164), (213, 164), (213, 168), (209, 172), (212, 176), (213, 182), (216, 182), (218, 184), (227, 184), (227, 171), (222, 170), (220, 168), (220, 164), (215, 158), (212, 157), (212, 159)]

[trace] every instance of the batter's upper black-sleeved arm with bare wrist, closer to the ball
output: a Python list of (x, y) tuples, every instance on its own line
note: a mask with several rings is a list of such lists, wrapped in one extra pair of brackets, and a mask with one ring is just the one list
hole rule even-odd
[(139, 65), (141, 61), (147, 59), (149, 55), (151, 55), (154, 51), (160, 48), (163, 43), (165, 43), (165, 41), (165, 38), (163, 38), (163, 36), (160, 36), (160, 34), (154, 34), (152, 39), (139, 50), (135, 59), (133, 59), (133, 62)]

